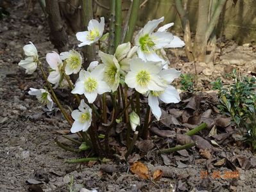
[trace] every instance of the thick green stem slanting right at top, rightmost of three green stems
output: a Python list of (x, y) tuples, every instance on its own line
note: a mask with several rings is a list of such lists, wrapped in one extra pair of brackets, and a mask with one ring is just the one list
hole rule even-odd
[(124, 43), (132, 41), (133, 31), (137, 22), (138, 12), (139, 12), (140, 0), (132, 1), (132, 12), (130, 14), (130, 19), (128, 22), (128, 31), (124, 38)]

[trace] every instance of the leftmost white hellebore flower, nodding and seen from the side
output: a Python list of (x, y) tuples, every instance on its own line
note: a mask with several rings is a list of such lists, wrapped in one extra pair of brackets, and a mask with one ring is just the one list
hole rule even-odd
[(23, 50), (28, 58), (26, 58), (25, 60), (21, 60), (19, 62), (19, 66), (26, 69), (26, 74), (33, 74), (33, 72), (37, 69), (37, 48), (32, 42), (30, 42), (30, 44), (23, 47)]

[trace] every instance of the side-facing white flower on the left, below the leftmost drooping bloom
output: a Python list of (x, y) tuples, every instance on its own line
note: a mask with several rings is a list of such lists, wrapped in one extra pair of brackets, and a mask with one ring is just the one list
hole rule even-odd
[(44, 89), (35, 89), (30, 88), (28, 92), (30, 95), (35, 95), (41, 104), (46, 104), (49, 111), (53, 110), (53, 100), (51, 99), (51, 95)]

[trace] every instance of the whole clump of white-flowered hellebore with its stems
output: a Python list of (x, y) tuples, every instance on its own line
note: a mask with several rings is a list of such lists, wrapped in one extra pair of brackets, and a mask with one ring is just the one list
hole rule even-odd
[[(178, 92), (171, 85), (180, 76), (180, 71), (169, 68), (169, 61), (162, 55), (164, 49), (183, 47), (184, 43), (167, 31), (173, 23), (157, 29), (163, 21), (164, 17), (150, 20), (135, 36), (134, 47), (125, 42), (117, 45), (114, 54), (110, 54), (99, 46), (100, 60), (92, 61), (87, 68), (83, 68), (83, 60), (77, 51), (49, 52), (46, 55), (48, 76), (38, 59), (35, 45), (30, 42), (24, 46), (28, 58), (19, 65), (26, 69), (27, 74), (32, 74), (39, 66), (47, 86), (47, 90), (30, 88), (28, 93), (35, 95), (49, 110), (53, 109), (55, 102), (71, 125), (71, 132), (79, 136), (78, 140), (64, 136), (79, 144), (78, 149), (71, 149), (55, 140), (60, 147), (76, 152), (92, 149), (93, 154), (101, 158), (110, 157), (110, 129), (115, 130), (117, 124), (122, 123), (126, 129), (119, 134), (126, 138), (128, 151), (125, 157), (128, 157), (138, 136), (148, 138), (151, 112), (157, 120), (160, 119), (159, 100), (167, 104), (180, 102)], [(101, 17), (101, 22), (90, 20), (88, 31), (76, 33), (81, 42), (78, 47), (92, 45), (105, 36), (104, 24), (104, 17)], [(71, 74), (79, 74), (78, 79), (71, 81)], [(55, 89), (63, 83), (69, 84), (69, 90), (76, 99), (71, 114), (55, 94)], [(143, 109), (146, 109), (145, 115)]]

